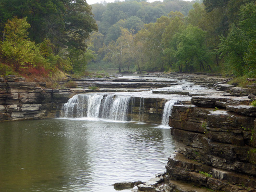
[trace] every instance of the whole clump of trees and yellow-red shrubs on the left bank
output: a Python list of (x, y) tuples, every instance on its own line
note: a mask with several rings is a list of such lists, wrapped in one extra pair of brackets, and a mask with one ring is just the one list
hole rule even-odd
[(0, 65), (26, 76), (85, 70), (97, 29), (85, 0), (1, 0)]

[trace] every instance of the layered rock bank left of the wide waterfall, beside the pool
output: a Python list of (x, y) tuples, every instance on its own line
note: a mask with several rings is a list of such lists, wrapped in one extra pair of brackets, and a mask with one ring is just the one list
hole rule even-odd
[(24, 82), (24, 78), (15, 76), (5, 81), (0, 83), (0, 121), (54, 117), (56, 109), (61, 109), (73, 96), (70, 92), (44, 89), (43, 83)]

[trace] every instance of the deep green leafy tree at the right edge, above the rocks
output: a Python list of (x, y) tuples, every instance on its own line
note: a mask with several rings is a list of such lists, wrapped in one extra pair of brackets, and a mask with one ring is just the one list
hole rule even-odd
[(256, 76), (256, 5), (241, 6), (238, 24), (232, 24), (228, 36), (221, 36), (219, 53), (228, 70), (235, 75)]

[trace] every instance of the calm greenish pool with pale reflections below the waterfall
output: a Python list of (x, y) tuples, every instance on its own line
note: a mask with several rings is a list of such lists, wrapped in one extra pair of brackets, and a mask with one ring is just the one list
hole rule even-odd
[(173, 150), (170, 129), (152, 124), (1, 122), (0, 192), (116, 192), (115, 182), (164, 172)]

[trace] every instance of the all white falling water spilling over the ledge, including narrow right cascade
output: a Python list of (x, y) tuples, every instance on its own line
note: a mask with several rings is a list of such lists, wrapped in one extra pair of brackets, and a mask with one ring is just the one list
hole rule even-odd
[[(139, 120), (144, 118), (144, 97), (140, 98)], [(107, 120), (127, 121), (129, 104), (133, 112), (135, 99), (132, 96), (104, 95), (104, 94), (78, 94), (64, 104), (62, 117), (64, 118), (103, 118)], [(169, 127), (172, 105), (175, 101), (167, 101), (162, 116), (162, 126)]]

